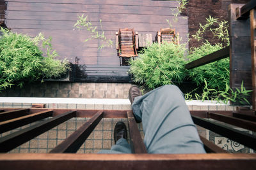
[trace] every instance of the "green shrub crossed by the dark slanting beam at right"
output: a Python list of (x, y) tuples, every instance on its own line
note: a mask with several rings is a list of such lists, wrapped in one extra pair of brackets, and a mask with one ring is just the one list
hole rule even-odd
[[(192, 48), (188, 55), (189, 62), (216, 52), (221, 48), (223, 48), (221, 44), (211, 45), (209, 42), (204, 43), (198, 48)], [(189, 70), (188, 74), (191, 80), (195, 81), (196, 85), (205, 85), (206, 80), (209, 88), (225, 90), (226, 84), (229, 84), (229, 58), (196, 67)]]

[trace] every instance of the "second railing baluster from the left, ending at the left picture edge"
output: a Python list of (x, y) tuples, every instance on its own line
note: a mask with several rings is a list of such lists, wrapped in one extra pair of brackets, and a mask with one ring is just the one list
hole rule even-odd
[(27, 125), (47, 117), (52, 117), (52, 110), (40, 111), (24, 117), (13, 118), (11, 120), (0, 122), (0, 133), (10, 131), (17, 127), (21, 127), (22, 125)]

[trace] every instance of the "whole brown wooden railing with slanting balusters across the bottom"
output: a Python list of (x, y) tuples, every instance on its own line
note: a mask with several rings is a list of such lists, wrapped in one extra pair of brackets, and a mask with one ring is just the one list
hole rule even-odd
[[(0, 109), (1, 132), (49, 117), (48, 120), (0, 138), (0, 169), (255, 169), (256, 154), (230, 154), (200, 136), (205, 150), (211, 154), (145, 154), (138, 126), (131, 110), (61, 110), (47, 108)], [(221, 134), (256, 150), (256, 137), (237, 131), (228, 125), (208, 118), (243, 127), (256, 132), (256, 117), (252, 110), (190, 111), (195, 124)], [(19, 113), (19, 115), (17, 114)], [(49, 153), (4, 153), (30, 139), (49, 131), (70, 118), (90, 118)], [(102, 118), (127, 118), (132, 153), (135, 154), (77, 154), (77, 150), (92, 133)], [(248, 120), (250, 118), (250, 120)], [(58, 153), (58, 154), (56, 154)], [(70, 154), (67, 154), (70, 153)], [(76, 154), (75, 154), (76, 153)], [(143, 154), (141, 154), (143, 153)]]

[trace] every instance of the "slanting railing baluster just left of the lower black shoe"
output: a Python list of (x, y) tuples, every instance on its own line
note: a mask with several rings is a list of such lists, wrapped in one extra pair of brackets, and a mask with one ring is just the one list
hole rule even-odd
[(103, 117), (103, 111), (98, 111), (90, 120), (83, 124), (77, 131), (73, 132), (60, 145), (51, 150), (50, 153), (76, 153), (84, 141), (92, 133)]

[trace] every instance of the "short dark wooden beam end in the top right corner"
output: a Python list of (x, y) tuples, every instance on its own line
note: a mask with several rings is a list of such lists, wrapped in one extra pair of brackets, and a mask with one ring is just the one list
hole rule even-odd
[(249, 3), (244, 4), (244, 6), (236, 8), (236, 18), (237, 20), (246, 20), (250, 17), (250, 11), (256, 8), (256, 1), (251, 0)]

